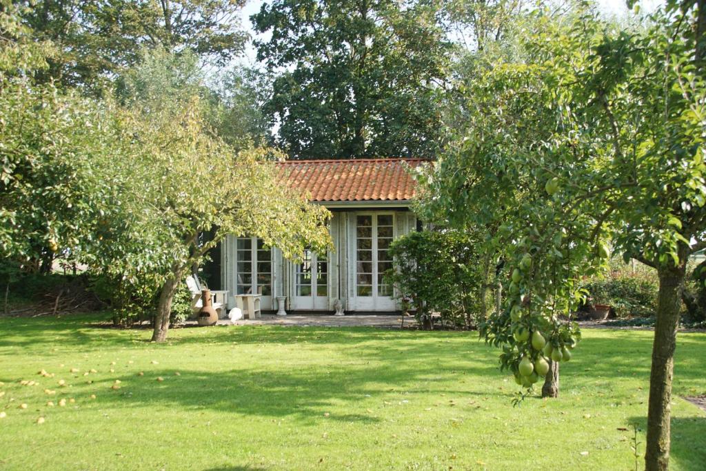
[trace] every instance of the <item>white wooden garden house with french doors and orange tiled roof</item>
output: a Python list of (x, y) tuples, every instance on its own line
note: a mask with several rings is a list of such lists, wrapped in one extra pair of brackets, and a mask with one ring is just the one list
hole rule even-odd
[[(227, 237), (220, 247), (220, 285), (234, 294), (261, 292), (262, 309), (277, 309), (287, 297), (287, 311), (335, 310), (340, 300), (347, 313), (390, 312), (399, 306), (382, 273), (391, 267), (388, 246), (417, 230), (409, 210), (414, 180), (405, 165), (420, 159), (297, 160), (280, 162), (287, 184), (311, 195), (331, 211), (333, 251), (306, 251), (301, 263), (285, 260), (255, 238)], [(212, 285), (214, 283), (212, 282)]]

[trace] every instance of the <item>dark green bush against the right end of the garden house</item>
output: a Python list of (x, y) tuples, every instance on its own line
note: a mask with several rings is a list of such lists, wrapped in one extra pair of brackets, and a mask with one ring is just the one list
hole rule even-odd
[(472, 234), (445, 230), (410, 232), (390, 245), (394, 263), (385, 276), (417, 320), (440, 312), (457, 326), (477, 322), (483, 278), (474, 244)]

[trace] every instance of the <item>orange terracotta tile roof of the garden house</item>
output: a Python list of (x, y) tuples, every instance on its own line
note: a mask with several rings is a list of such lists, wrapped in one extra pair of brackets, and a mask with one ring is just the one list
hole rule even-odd
[(426, 160), (287, 160), (277, 166), (311, 201), (407, 201), (414, 196), (414, 180), (402, 162), (417, 167)]

